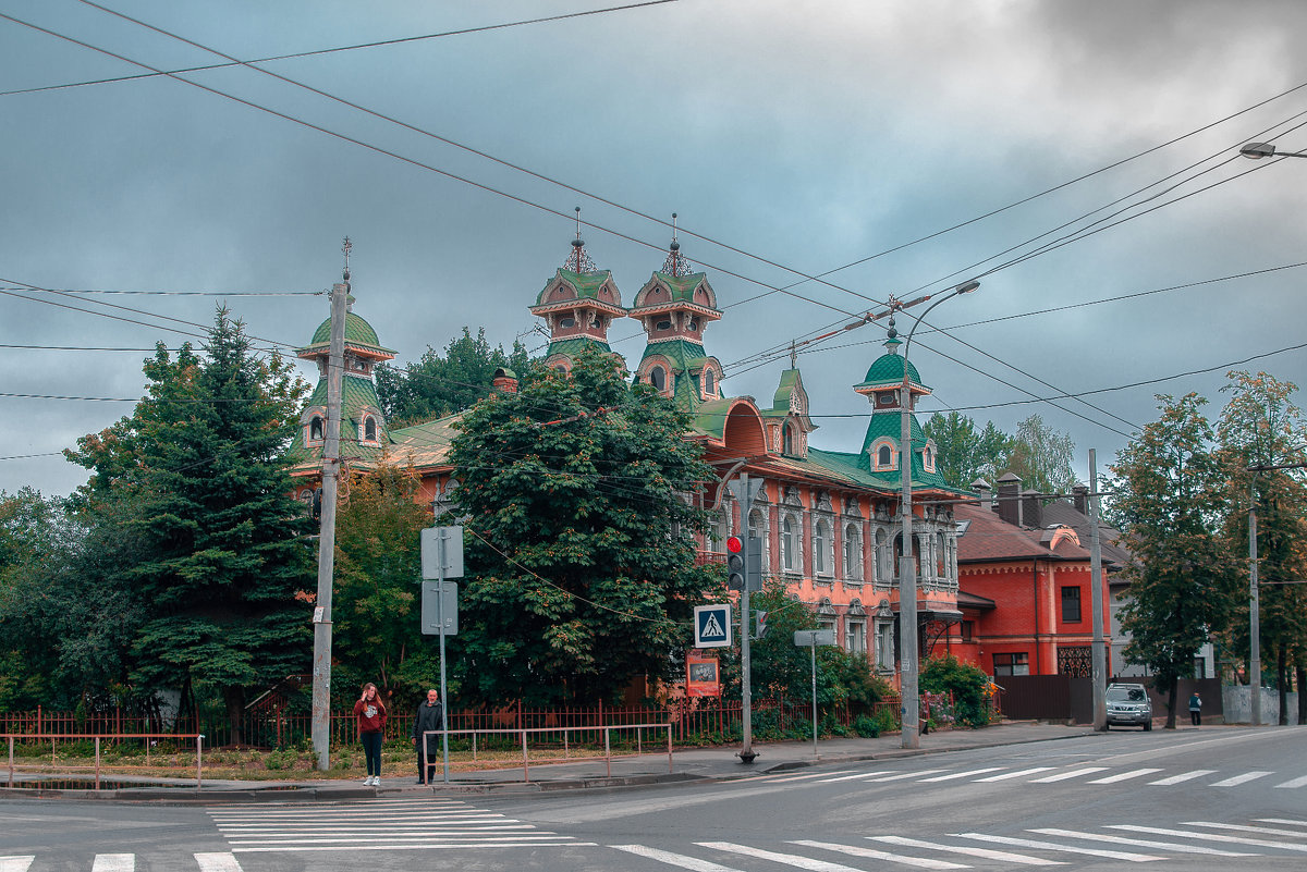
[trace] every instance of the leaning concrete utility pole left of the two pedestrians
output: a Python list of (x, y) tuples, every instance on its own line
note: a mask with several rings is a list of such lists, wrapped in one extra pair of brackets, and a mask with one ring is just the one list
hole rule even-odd
[(314, 608), (314, 702), (311, 734), (318, 769), (331, 768), (331, 590), (336, 568), (336, 493), (340, 486), (340, 394), (345, 372), (345, 305), (349, 298), (349, 239), (345, 281), (331, 290), (331, 347), (327, 356), (327, 432), (323, 435), (322, 527), (318, 537), (318, 600)]

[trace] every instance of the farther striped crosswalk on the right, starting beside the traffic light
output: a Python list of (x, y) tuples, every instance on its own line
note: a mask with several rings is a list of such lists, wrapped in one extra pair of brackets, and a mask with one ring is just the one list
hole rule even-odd
[(1244, 785), (1280, 790), (1302, 790), (1307, 787), (1307, 775), (1298, 773), (1276, 773), (1265, 769), (1247, 771), (1221, 771), (1217, 769), (1191, 769), (1168, 773), (1158, 766), (1134, 769), (1114, 769), (1111, 766), (982, 766), (978, 769), (918, 769), (911, 771), (873, 768), (867, 770), (838, 769), (819, 773), (782, 773), (748, 778), (750, 783), (789, 783), (808, 785), (884, 785), (887, 782), (915, 782), (919, 785), (955, 785), (959, 782), (993, 783), (1004, 781), (1023, 781), (1027, 785), (1059, 785), (1081, 782), (1086, 785), (1120, 785), (1131, 782), (1148, 787), (1219, 787), (1233, 788)]

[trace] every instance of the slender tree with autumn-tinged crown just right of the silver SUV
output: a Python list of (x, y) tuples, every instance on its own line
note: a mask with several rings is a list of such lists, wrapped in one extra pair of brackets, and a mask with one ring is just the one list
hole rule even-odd
[(1111, 467), (1112, 504), (1134, 563), (1121, 570), (1129, 598), (1121, 625), (1125, 655), (1146, 664), (1168, 700), (1175, 728), (1176, 680), (1229, 624), (1238, 570), (1218, 533), (1225, 475), (1197, 394), (1159, 396), (1161, 416), (1144, 427)]

